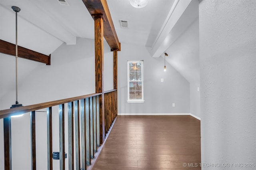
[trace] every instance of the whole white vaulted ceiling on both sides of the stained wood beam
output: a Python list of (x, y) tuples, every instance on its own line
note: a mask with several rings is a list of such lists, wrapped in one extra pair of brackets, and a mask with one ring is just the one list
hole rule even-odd
[[(94, 21), (82, 0), (66, 1), (69, 6), (61, 5), (58, 0), (0, 0), (0, 39), (15, 43), (15, 12), (11, 6), (21, 9), (18, 12), (20, 46), (49, 55), (63, 42), (76, 44), (76, 37), (93, 39)], [(193, 81), (186, 76), (186, 71), (190, 71), (180, 69), (179, 65), (190, 68), (190, 63), (193, 63), (199, 74), (199, 56), (183, 56), (182, 59), (172, 57), (171, 60), (172, 55), (180, 54), (177, 48), (172, 48), (173, 45), (186, 47), (179, 49), (183, 53), (184, 50), (188, 51), (184, 55), (190, 55), (189, 48), (197, 48), (199, 51), (197, 34), (188, 36), (188, 40), (185, 38), (185, 42), (180, 43), (180, 46), (176, 44), (179, 38), (188, 32), (192, 23), (198, 20), (198, 0), (190, 1), (148, 0), (148, 5), (140, 9), (132, 7), (129, 0), (107, 0), (107, 3), (121, 43), (146, 46), (152, 57), (163, 57), (163, 53), (168, 51), (167, 61), (188, 81)], [(122, 28), (119, 20), (128, 20), (129, 27)], [(192, 28), (193, 32), (196, 32), (196, 29), (199, 27)], [(191, 34), (194, 34), (193, 32)], [(198, 46), (190, 47), (189, 44), (197, 39)], [(192, 55), (199, 55), (199, 52), (195, 53)]]

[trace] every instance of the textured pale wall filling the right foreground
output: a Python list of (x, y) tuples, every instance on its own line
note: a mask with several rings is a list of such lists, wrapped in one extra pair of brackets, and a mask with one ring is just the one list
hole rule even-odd
[(255, 0), (199, 4), (202, 163), (234, 163), (202, 170), (255, 170), (255, 16)]

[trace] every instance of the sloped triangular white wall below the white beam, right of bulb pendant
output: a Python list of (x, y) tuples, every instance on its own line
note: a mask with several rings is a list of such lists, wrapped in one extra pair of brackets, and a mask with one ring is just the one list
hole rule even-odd
[[(198, 8), (194, 9), (198, 13)], [(190, 83), (200, 83), (198, 18), (166, 49), (166, 61)]]

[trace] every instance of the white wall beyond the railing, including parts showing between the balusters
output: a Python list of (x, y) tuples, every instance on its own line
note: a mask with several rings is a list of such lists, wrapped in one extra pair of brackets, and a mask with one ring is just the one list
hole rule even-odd
[[(104, 43), (104, 89), (113, 89), (113, 53)], [(95, 93), (94, 40), (77, 38), (51, 55), (51, 65), (19, 58), (18, 101), (32, 105)], [(15, 57), (0, 54), (0, 109), (15, 102)], [(44, 109), (46, 111), (46, 109)], [(66, 107), (67, 111), (67, 107)], [(67, 112), (66, 112), (67, 114)], [(65, 115), (65, 121), (67, 117)], [(58, 107), (53, 108), (53, 151), (59, 150)], [(67, 123), (65, 124), (67, 129)], [(0, 121), (0, 170), (4, 169), (3, 123)], [(67, 130), (65, 147), (68, 152)], [(36, 112), (37, 169), (47, 169), (46, 113)], [(58, 160), (53, 160), (58, 169)], [(67, 162), (67, 160), (66, 160)], [(30, 169), (30, 114), (12, 118), (12, 170)]]

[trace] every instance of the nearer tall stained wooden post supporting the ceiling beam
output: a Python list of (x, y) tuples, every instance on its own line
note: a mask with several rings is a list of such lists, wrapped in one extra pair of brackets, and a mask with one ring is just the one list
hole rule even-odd
[(94, 16), (95, 33), (95, 91), (102, 93), (100, 103), (100, 144), (105, 140), (105, 116), (104, 116), (104, 71), (103, 71), (103, 20), (102, 15)]

